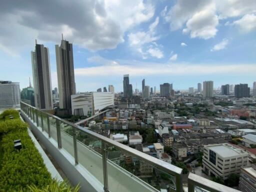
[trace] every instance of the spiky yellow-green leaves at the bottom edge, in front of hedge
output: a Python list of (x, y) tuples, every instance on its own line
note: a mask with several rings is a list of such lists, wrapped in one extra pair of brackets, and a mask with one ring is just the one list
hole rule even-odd
[[(80, 187), (78, 184), (75, 187), (71, 187), (66, 180), (58, 182), (56, 179), (53, 179), (42, 189), (38, 188), (34, 184), (28, 186), (28, 188), (30, 192), (78, 192)], [(22, 190), (20, 192), (22, 192)]]

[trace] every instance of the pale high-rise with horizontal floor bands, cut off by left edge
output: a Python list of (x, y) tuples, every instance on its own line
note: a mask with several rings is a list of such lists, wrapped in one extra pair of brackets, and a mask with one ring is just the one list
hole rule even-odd
[(0, 108), (19, 108), (19, 82), (0, 81)]

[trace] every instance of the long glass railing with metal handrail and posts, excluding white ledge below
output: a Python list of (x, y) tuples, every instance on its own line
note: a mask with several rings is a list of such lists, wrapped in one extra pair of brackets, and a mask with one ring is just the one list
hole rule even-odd
[[(104, 191), (183, 191), (181, 168), (24, 102), (20, 102), (20, 109), (40, 131), (56, 141), (58, 148), (72, 156), (75, 165), (79, 163), (101, 182)], [(223, 191), (215, 185), (210, 188), (207, 182), (224, 186), (190, 173), (188, 191)], [(224, 191), (234, 191), (226, 188), (229, 190)]]

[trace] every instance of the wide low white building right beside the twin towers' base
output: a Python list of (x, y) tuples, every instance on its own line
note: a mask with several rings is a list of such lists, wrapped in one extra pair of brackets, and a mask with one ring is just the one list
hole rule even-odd
[(85, 92), (71, 95), (72, 114), (74, 115), (94, 115), (113, 104), (113, 92)]

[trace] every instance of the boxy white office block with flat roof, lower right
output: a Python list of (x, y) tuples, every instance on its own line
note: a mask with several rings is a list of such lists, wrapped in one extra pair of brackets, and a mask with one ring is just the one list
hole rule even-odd
[(224, 180), (230, 173), (239, 173), (241, 166), (248, 164), (248, 153), (228, 143), (209, 144), (203, 148), (204, 171)]

